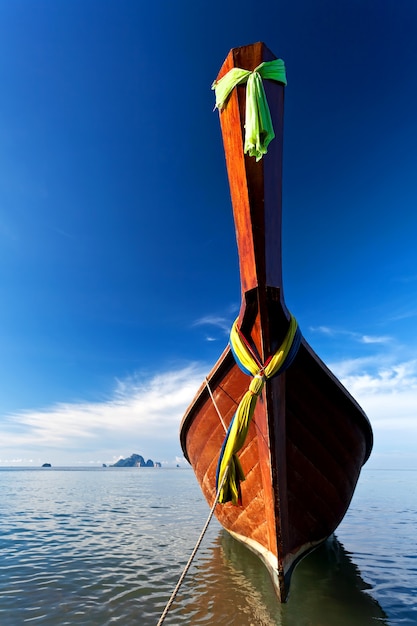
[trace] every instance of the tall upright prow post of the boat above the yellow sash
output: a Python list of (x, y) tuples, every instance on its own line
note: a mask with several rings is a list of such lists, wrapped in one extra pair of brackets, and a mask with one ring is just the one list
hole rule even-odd
[[(233, 67), (253, 70), (263, 61), (275, 58), (263, 43), (236, 48), (227, 56), (217, 79)], [(233, 90), (227, 106), (220, 112), (240, 263), (239, 321), (242, 330), (252, 337), (263, 361), (281, 343), (288, 318), (281, 263), (284, 85), (265, 80), (264, 88), (275, 139), (260, 161), (244, 154), (245, 85)], [(270, 329), (276, 332), (270, 334)]]

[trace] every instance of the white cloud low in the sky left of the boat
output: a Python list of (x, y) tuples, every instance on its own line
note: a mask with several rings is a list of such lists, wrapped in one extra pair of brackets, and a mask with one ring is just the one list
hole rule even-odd
[(191, 365), (152, 378), (134, 376), (117, 381), (102, 402), (59, 403), (8, 415), (0, 423), (0, 462), (6, 450), (7, 458), (61, 450), (74, 462), (100, 451), (116, 458), (139, 452), (155, 460), (167, 448), (178, 453), (181, 418), (205, 374), (206, 368)]

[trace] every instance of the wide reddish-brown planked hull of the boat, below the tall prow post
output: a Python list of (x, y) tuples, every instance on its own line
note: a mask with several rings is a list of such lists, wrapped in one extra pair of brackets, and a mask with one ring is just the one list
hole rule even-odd
[[(212, 506), (225, 437), (218, 411), (228, 426), (249, 377), (226, 349), (207, 381), (217, 409), (204, 383), (184, 416), (180, 437)], [(246, 476), (242, 505), (218, 504), (215, 515), (261, 558), (284, 601), (297, 561), (327, 539), (346, 513), (372, 448), (372, 430), (353, 398), (304, 341), (287, 372), (267, 387), (239, 453)], [(275, 411), (267, 410), (268, 392), (276, 396)]]

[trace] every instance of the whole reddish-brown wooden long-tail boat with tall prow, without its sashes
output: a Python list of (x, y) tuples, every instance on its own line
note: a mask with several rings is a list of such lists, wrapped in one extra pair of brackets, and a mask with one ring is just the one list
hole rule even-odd
[[(262, 43), (236, 48), (217, 81), (232, 68), (253, 71), (274, 59)], [(217, 519), (265, 563), (285, 601), (297, 562), (326, 540), (346, 513), (372, 449), (372, 430), (356, 401), (299, 333), (298, 342), (293, 337), (292, 363), (265, 380), (267, 360), (288, 337), (292, 317), (281, 272), (284, 84), (265, 80), (264, 89), (275, 132), (264, 158), (244, 153), (245, 84), (233, 89), (220, 111), (242, 288), (236, 329), (260, 363), (263, 384), (252, 393), (259, 397), (245, 442), (223, 468), (227, 480), (238, 456), (245, 480), (237, 485), (237, 503), (215, 505), (222, 491), (218, 465), (225, 437), (253, 380), (240, 369), (230, 346), (189, 406), (180, 439)]]

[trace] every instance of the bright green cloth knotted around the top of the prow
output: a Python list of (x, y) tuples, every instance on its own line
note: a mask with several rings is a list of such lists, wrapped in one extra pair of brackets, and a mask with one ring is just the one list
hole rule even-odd
[(237, 85), (247, 83), (244, 152), (254, 156), (257, 161), (267, 153), (268, 145), (275, 137), (263, 78), (286, 85), (284, 61), (264, 61), (252, 72), (233, 67), (220, 80), (214, 81), (211, 87), (216, 93), (215, 108), (221, 110), (231, 91)]

